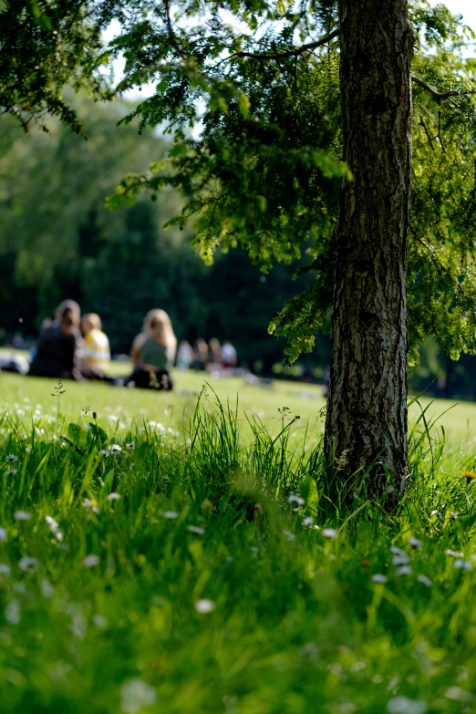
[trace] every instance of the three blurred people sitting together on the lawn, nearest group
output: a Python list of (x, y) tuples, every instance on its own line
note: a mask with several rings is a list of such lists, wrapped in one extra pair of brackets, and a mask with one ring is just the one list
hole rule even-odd
[(170, 317), (163, 310), (150, 310), (142, 332), (132, 343), (132, 374), (120, 381), (110, 378), (107, 373), (109, 339), (102, 331), (99, 316), (89, 313), (81, 319), (78, 303), (64, 300), (57, 306), (55, 319), (45, 321), (42, 326), (28, 374), (79, 381), (98, 379), (138, 388), (171, 389), (170, 370), (176, 349), (177, 339)]

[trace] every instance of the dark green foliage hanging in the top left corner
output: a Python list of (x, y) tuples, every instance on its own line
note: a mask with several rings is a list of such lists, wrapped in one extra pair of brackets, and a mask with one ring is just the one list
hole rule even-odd
[(107, 55), (89, 0), (6, 0), (0, 3), (0, 111), (27, 131), (47, 130), (47, 114), (82, 132), (62, 94), (65, 85), (109, 98), (99, 74)]

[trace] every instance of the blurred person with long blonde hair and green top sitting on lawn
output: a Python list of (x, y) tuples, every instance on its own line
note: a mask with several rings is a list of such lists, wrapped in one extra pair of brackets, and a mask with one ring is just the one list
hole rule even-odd
[(135, 369), (126, 384), (138, 388), (171, 389), (171, 367), (177, 350), (177, 338), (171, 318), (164, 310), (150, 310), (142, 332), (132, 343)]

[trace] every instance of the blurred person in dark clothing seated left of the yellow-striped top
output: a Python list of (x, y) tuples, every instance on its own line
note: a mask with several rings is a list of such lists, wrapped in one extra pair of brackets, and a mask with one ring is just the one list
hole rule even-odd
[(79, 305), (65, 300), (57, 306), (55, 320), (45, 327), (36, 347), (28, 374), (33, 377), (81, 380), (79, 358)]

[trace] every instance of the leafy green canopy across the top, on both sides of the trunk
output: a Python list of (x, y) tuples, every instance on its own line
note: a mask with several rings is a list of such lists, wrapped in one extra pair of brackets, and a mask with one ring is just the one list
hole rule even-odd
[[(164, 186), (178, 189), (183, 208), (170, 223), (182, 228), (193, 219), (192, 243), (208, 263), (218, 247), (226, 252), (241, 244), (267, 272), (275, 261), (292, 263), (307, 251), (305, 270), (316, 280), (284, 306), (271, 330), (289, 338), (290, 359), (309, 350), (332, 305), (336, 179), (349, 175), (341, 160), (336, 2), (4, 5), (0, 103), (20, 119), (54, 111), (73, 127), (59, 86), (73, 78), (92, 86), (105, 61), (99, 30), (119, 22), (109, 45), (109, 58), (125, 59), (119, 92), (154, 88), (122, 121), (138, 120), (140, 130), (160, 127), (173, 141), (167, 159), (124, 178), (109, 206), (131, 203), (141, 191), (154, 197)], [(476, 63), (461, 52), (474, 36), (444, 5), (415, 2), (409, 13), (417, 37), (409, 335), (413, 347), (434, 336), (458, 357), (475, 351)], [(12, 37), (25, 43), (21, 57), (31, 47), (25, 67), (15, 62)], [(83, 37), (88, 44), (80, 44)], [(38, 50), (44, 62), (32, 67)]]

